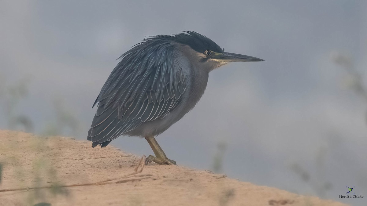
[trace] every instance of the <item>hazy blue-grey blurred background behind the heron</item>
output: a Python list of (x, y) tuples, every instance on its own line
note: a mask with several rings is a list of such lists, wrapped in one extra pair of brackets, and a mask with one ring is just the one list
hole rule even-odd
[[(157, 138), (179, 165), (345, 203), (367, 195), (366, 1), (0, 1), (0, 129), (85, 140), (116, 60), (145, 36), (199, 32), (266, 62), (210, 73)], [(91, 143), (92, 144), (92, 143)], [(144, 139), (112, 146), (152, 153)]]

